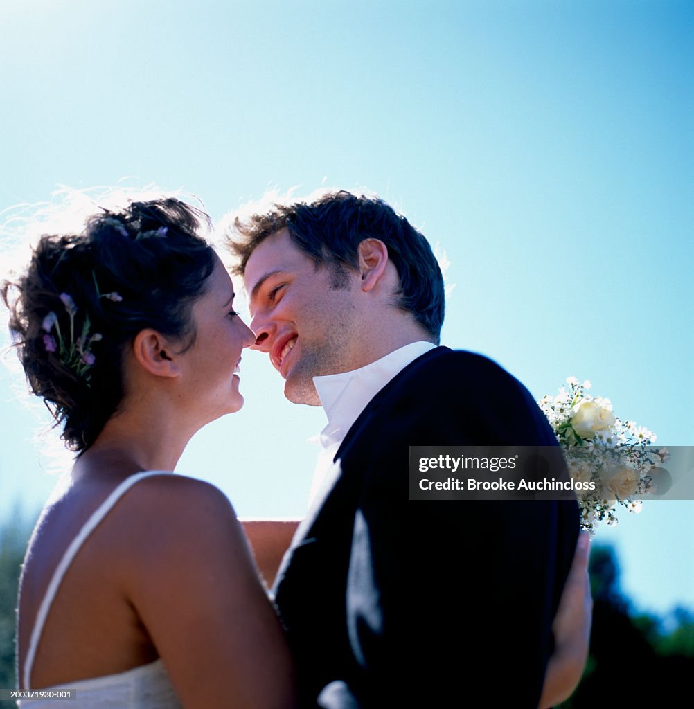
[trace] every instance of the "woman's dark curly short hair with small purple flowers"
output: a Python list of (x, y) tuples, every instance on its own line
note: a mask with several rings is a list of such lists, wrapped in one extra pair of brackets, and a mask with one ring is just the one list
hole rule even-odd
[(215, 255), (199, 235), (208, 216), (177, 199), (103, 211), (82, 233), (43, 235), (27, 271), (1, 287), (30, 389), (69, 449), (94, 442), (123, 399), (123, 352), (144, 328), (195, 332), (191, 305)]

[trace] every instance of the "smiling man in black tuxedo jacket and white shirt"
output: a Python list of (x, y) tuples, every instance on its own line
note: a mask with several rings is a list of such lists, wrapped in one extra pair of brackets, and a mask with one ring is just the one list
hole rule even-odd
[(410, 445), (554, 445), (532, 396), (438, 346), (442, 274), (383, 201), (341, 191), (235, 226), (254, 348), (328, 416), (274, 586), (302, 706), (535, 709), (576, 504), (408, 500)]

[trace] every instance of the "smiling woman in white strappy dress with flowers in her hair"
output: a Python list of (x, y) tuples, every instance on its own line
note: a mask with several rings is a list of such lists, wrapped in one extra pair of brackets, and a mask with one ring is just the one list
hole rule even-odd
[(199, 428), (243, 405), (254, 342), (206, 220), (176, 199), (104, 211), (43, 236), (2, 289), (30, 388), (77, 452), (23, 566), (20, 686), (77, 691), (73, 709), (294, 705), (233, 508), (171, 472)]

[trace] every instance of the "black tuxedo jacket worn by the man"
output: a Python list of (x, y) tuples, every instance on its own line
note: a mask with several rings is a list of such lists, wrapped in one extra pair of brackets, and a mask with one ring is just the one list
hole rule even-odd
[(556, 445), (530, 393), (437, 347), (364, 409), (275, 598), (303, 707), (535, 709), (573, 501), (410, 501), (410, 445)]

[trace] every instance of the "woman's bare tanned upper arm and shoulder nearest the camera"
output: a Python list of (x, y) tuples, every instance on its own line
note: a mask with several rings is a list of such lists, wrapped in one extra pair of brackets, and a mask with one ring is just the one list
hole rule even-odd
[(293, 708), (293, 666), (247, 540), (223, 493), (198, 480), (142, 481), (123, 595), (186, 709)]

